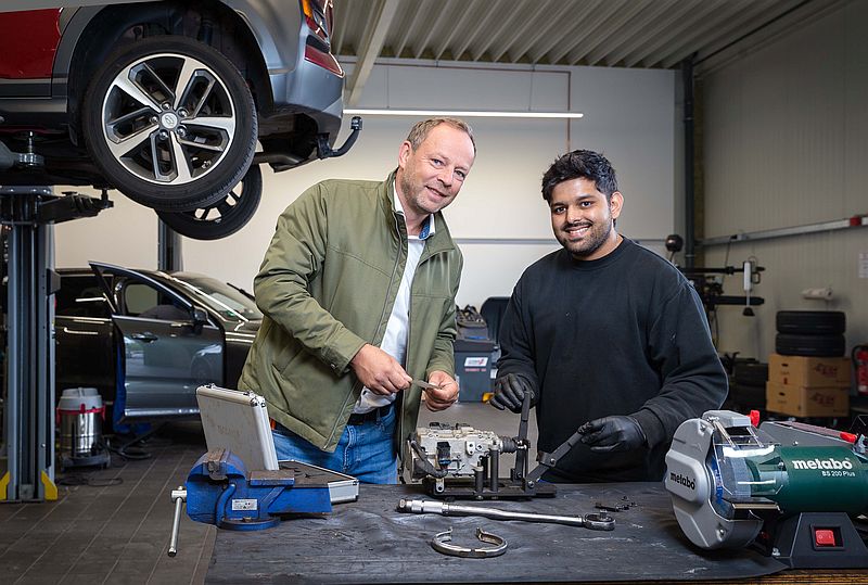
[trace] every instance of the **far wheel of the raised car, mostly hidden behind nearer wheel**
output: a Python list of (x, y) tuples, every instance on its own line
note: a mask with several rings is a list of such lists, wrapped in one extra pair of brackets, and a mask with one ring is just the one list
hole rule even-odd
[(263, 195), (263, 171), (252, 165), (247, 174), (220, 200), (192, 212), (157, 212), (168, 227), (194, 240), (219, 240), (247, 225)]

